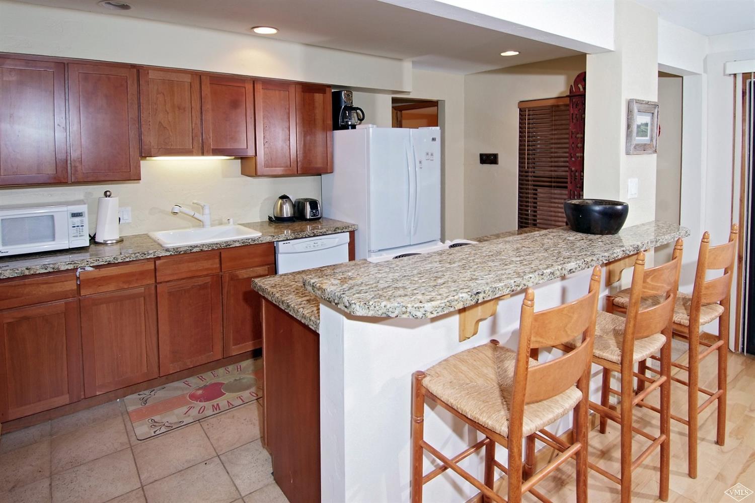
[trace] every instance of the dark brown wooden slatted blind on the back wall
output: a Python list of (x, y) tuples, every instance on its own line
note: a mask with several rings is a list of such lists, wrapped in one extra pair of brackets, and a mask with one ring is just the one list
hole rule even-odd
[(569, 98), (519, 103), (519, 228), (566, 225)]

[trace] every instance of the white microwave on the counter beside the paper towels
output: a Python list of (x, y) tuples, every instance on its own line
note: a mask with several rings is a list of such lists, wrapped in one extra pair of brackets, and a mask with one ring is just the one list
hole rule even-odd
[(0, 207), (0, 257), (88, 245), (84, 201)]

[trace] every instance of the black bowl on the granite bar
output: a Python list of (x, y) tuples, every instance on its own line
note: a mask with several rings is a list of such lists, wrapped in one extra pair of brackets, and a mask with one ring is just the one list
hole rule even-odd
[(568, 199), (564, 201), (564, 213), (572, 231), (616, 234), (627, 221), (629, 204), (610, 199)]

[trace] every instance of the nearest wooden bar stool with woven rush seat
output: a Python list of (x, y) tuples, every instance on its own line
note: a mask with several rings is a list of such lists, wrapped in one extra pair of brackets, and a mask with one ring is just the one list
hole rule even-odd
[[(422, 501), (424, 484), (451, 469), (482, 493), (484, 501), (519, 503), (530, 492), (550, 501), (535, 489), (568, 459), (577, 462), (577, 501), (587, 501), (587, 400), (590, 356), (600, 284), (600, 268), (593, 270), (589, 293), (569, 304), (535, 313), (535, 292), (527, 289), (519, 321), (519, 348), (513, 351), (492, 340), (442, 360), (425, 372), (415, 372), (411, 394), (411, 501)], [(531, 351), (577, 338), (580, 344), (566, 354), (538, 363)], [(576, 387), (575, 387), (576, 384)], [(438, 403), (485, 435), (464, 452), (448, 458), (424, 440), (425, 400)], [(574, 413), (574, 438), (560, 446), (559, 437), (544, 430), (562, 416)], [(534, 435), (561, 452), (553, 462), (522, 481), (522, 439)], [(495, 460), (495, 444), (508, 449), (508, 468)], [(458, 463), (485, 448), (485, 480), (477, 480)], [(423, 452), (442, 466), (423, 474)], [(508, 499), (493, 490), (495, 468), (508, 475)]]

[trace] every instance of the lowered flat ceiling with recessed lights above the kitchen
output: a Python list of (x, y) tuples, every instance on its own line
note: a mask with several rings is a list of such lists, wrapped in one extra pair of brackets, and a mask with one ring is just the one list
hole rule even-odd
[[(140, 17), (254, 35), (275, 26), (279, 40), (411, 60), (414, 68), (473, 73), (580, 54), (378, 0), (124, 0), (114, 11), (97, 0), (21, 0), (30, 4)], [(501, 57), (502, 51), (519, 56)]]

